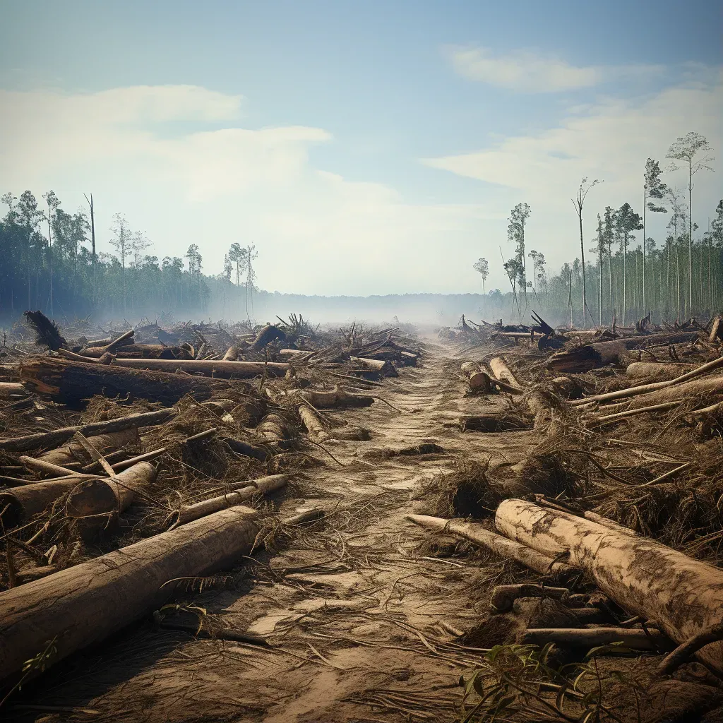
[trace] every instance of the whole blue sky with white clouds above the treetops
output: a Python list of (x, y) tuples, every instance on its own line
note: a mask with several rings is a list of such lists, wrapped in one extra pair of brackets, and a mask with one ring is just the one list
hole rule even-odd
[[(508, 280), (510, 209), (554, 272), (580, 253), (570, 202), (641, 212), (646, 158), (723, 146), (719, 0), (4, 0), (0, 194), (93, 193), (159, 258), (205, 273), (254, 244), (262, 288), (465, 293)], [(723, 169), (694, 177), (705, 230)], [(687, 176), (667, 171), (683, 188)], [(649, 236), (664, 241), (656, 215)], [(638, 241), (641, 239), (638, 239)], [(588, 242), (589, 241), (589, 242)], [(634, 244), (633, 244), (634, 245)]]

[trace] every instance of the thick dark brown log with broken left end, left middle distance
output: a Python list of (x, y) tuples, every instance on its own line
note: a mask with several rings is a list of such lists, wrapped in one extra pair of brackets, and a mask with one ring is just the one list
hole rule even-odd
[[(121, 362), (139, 361), (141, 364), (218, 364), (219, 362), (168, 361), (166, 359), (121, 359)], [(239, 361), (221, 362), (241, 364)], [(145, 369), (127, 369), (115, 364), (82, 364), (77, 361), (61, 361), (50, 357), (38, 357), (20, 367), (25, 385), (38, 393), (53, 396), (68, 406), (82, 406), (84, 401), (100, 394), (109, 398), (126, 398), (132, 394), (139, 399), (158, 401), (172, 406), (186, 394), (199, 400), (210, 397), (214, 390), (226, 390), (229, 383), (223, 380), (193, 377), (190, 375), (149, 372)]]

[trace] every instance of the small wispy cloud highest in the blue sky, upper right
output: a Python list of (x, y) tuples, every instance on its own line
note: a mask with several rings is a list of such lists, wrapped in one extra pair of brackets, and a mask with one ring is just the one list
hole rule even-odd
[(554, 56), (515, 51), (495, 56), (489, 48), (449, 48), (458, 74), (469, 80), (525, 93), (557, 93), (659, 72), (654, 65), (576, 67)]

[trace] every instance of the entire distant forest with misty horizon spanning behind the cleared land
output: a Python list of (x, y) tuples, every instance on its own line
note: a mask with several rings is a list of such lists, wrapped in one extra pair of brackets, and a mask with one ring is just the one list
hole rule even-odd
[[(257, 287), (254, 246), (231, 244), (223, 272), (207, 275), (197, 244), (191, 244), (183, 257), (159, 260), (148, 253), (152, 244), (147, 236), (116, 213), (110, 229), (115, 253), (98, 254), (92, 196), (87, 197), (87, 209), (69, 213), (52, 191), (40, 201), (30, 191), (20, 197), (7, 193), (1, 199), (7, 212), (0, 221), (0, 317), (14, 319), (26, 309), (41, 309), (67, 320), (94, 312), (98, 317), (129, 320), (142, 316), (253, 319), (254, 315), (273, 319), (275, 314), (294, 311), (319, 320), (398, 315), (401, 320), (450, 322), (461, 313), (487, 320), (524, 320), (534, 308), (551, 323), (589, 325), (613, 319), (629, 323), (648, 312), (656, 322), (707, 316), (723, 309), (723, 200), (705, 231), (693, 223), (690, 210), (693, 176), (712, 170), (709, 163), (714, 159), (708, 152), (708, 142), (696, 133), (679, 138), (669, 148), (667, 158), (688, 175), (688, 186), (682, 190), (667, 187), (659, 162), (649, 158), (641, 174), (642, 215), (630, 203), (617, 209), (606, 206), (597, 214), (595, 235), (587, 241), (583, 212), (591, 205), (590, 192), (601, 181), (583, 179), (573, 199), (580, 239), (570, 239), (570, 249), (579, 243), (580, 254), (552, 275), (544, 254), (529, 248), (526, 223), (531, 208), (526, 203), (516, 205), (508, 226), (508, 241), (515, 252), (504, 262), (509, 289), (485, 290), (489, 262), (480, 258), (474, 268), (481, 275), (482, 294), (331, 299), (270, 293)], [(596, 194), (599, 189), (591, 198)], [(665, 239), (646, 235), (646, 221), (653, 213), (667, 214)], [(586, 248), (587, 244), (591, 246)]]

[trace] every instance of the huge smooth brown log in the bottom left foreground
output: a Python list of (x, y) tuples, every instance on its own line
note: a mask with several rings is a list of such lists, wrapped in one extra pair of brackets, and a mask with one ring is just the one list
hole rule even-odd
[(48, 641), (56, 648), (49, 663), (102, 641), (166, 602), (171, 581), (230, 568), (258, 530), (254, 510), (221, 510), (0, 593), (0, 679)]

